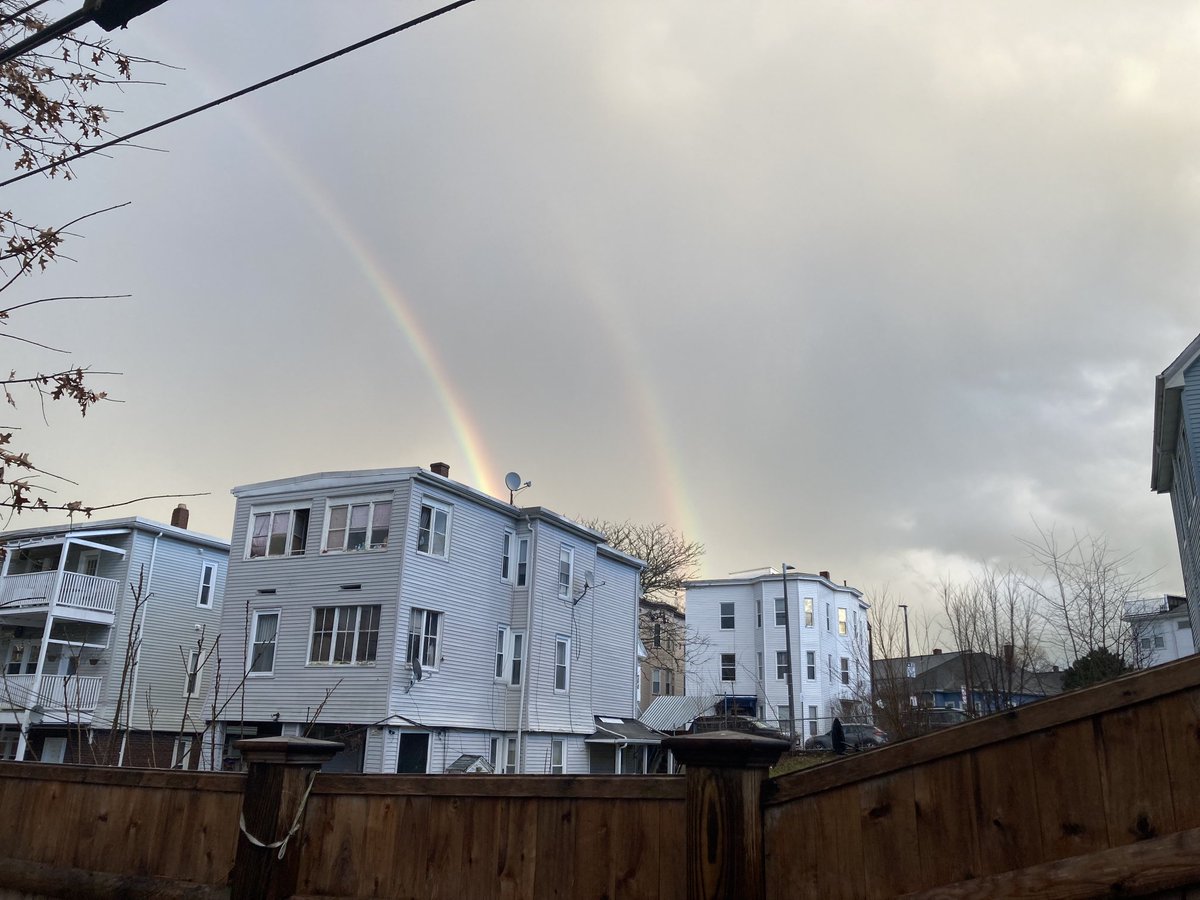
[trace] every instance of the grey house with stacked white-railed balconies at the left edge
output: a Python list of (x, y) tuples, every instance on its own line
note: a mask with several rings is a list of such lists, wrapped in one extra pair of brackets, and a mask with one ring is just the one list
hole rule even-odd
[(229, 544), (187, 530), (180, 504), (172, 524), (30, 528), (0, 546), (0, 756), (181, 763), (180, 734), (204, 727), (197, 641), (218, 630)]

